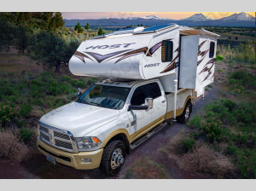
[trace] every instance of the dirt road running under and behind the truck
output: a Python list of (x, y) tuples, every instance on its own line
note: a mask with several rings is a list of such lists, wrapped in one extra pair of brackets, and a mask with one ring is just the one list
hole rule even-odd
[[(213, 84), (212, 84), (213, 85)], [(195, 99), (192, 119), (209, 102), (218, 97), (219, 86), (213, 85), (207, 92), (205, 99)], [(143, 142), (138, 148), (135, 148), (131, 154), (126, 155), (125, 165), (118, 177), (124, 178), (126, 171), (141, 157), (150, 157), (155, 162), (164, 165), (170, 178), (207, 178), (201, 174), (189, 174), (180, 170), (174, 161), (167, 159), (165, 154), (158, 152), (158, 149), (169, 142), (173, 136), (185, 128), (184, 124), (175, 122), (172, 125), (166, 125), (162, 130)], [(32, 158), (26, 162), (14, 163), (9, 161), (0, 161), (0, 178), (108, 178), (104, 177), (99, 170), (96, 171), (77, 171), (64, 165), (51, 165), (45, 156), (37, 150), (33, 152)]]

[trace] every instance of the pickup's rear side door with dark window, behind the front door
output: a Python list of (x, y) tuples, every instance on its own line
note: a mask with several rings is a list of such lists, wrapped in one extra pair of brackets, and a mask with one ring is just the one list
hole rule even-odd
[(147, 89), (153, 98), (153, 108), (151, 109), (152, 124), (161, 123), (166, 117), (166, 96), (161, 85), (157, 82), (147, 84)]

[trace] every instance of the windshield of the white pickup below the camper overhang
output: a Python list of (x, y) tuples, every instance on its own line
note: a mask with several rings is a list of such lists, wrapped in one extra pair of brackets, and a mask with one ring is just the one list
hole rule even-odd
[(86, 90), (83, 96), (80, 96), (78, 102), (98, 107), (121, 109), (129, 91), (129, 88), (95, 84)]

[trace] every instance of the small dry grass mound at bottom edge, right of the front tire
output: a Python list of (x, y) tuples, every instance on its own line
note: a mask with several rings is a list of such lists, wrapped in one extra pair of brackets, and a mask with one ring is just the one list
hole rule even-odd
[(169, 178), (162, 165), (155, 163), (148, 157), (138, 159), (137, 162), (126, 171), (125, 178), (134, 179), (166, 179)]

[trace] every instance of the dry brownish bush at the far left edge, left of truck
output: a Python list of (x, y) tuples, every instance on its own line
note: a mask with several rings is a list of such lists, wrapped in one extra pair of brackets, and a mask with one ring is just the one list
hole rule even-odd
[(11, 161), (26, 159), (29, 148), (20, 142), (18, 130), (5, 130), (0, 132), (0, 157)]

